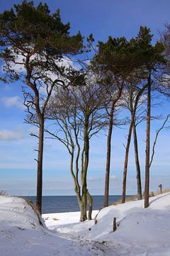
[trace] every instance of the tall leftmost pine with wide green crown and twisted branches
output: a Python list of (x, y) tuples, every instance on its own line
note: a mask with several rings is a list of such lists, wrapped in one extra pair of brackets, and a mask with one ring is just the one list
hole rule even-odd
[[(47, 4), (40, 3), (35, 7), (33, 1), (23, 1), (0, 14), (0, 45), (6, 75), (12, 81), (21, 78), (33, 92), (33, 95), (28, 92), (28, 111), (33, 107), (39, 127), (36, 205), (41, 213), (44, 114), (58, 82), (53, 80), (49, 85), (47, 80), (52, 74), (58, 78), (64, 73), (64, 68), (56, 61), (60, 62), (63, 55), (80, 53), (82, 37), (80, 33), (69, 36), (69, 23), (62, 23), (59, 10), (50, 14)], [(45, 87), (46, 97), (40, 95), (42, 87)]]

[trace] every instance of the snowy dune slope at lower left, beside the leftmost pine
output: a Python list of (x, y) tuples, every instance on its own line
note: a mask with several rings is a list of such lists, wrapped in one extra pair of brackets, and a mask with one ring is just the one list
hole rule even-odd
[(0, 196), (1, 256), (89, 256), (91, 247), (84, 244), (82, 250), (79, 241), (60, 238), (56, 231), (44, 228), (24, 199)]

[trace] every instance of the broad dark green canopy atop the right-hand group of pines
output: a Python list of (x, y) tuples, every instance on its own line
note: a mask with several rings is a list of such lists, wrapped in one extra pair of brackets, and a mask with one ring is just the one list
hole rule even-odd
[(137, 68), (150, 69), (158, 63), (164, 63), (163, 51), (162, 43), (157, 42), (152, 46), (149, 28), (141, 26), (137, 37), (130, 41), (125, 37), (111, 36), (106, 43), (99, 41), (94, 63), (115, 75), (127, 76)]

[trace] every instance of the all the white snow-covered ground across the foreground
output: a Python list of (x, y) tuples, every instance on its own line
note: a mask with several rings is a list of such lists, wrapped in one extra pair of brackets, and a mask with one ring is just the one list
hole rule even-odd
[[(37, 215), (22, 198), (0, 196), (1, 256), (170, 256), (170, 193), (103, 208), (79, 223), (79, 212)], [(113, 218), (118, 228), (113, 233)]]

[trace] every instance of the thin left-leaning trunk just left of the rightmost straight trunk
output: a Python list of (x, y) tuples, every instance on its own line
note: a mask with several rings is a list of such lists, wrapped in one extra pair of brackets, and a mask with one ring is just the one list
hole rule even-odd
[(137, 132), (136, 132), (136, 126), (135, 122), (132, 126), (133, 129), (133, 137), (134, 137), (134, 150), (135, 150), (135, 164), (136, 164), (136, 170), (137, 170), (137, 199), (142, 199), (142, 183), (141, 183), (141, 177), (140, 177), (140, 160), (139, 160), (139, 154), (138, 154), (138, 145), (137, 145)]

